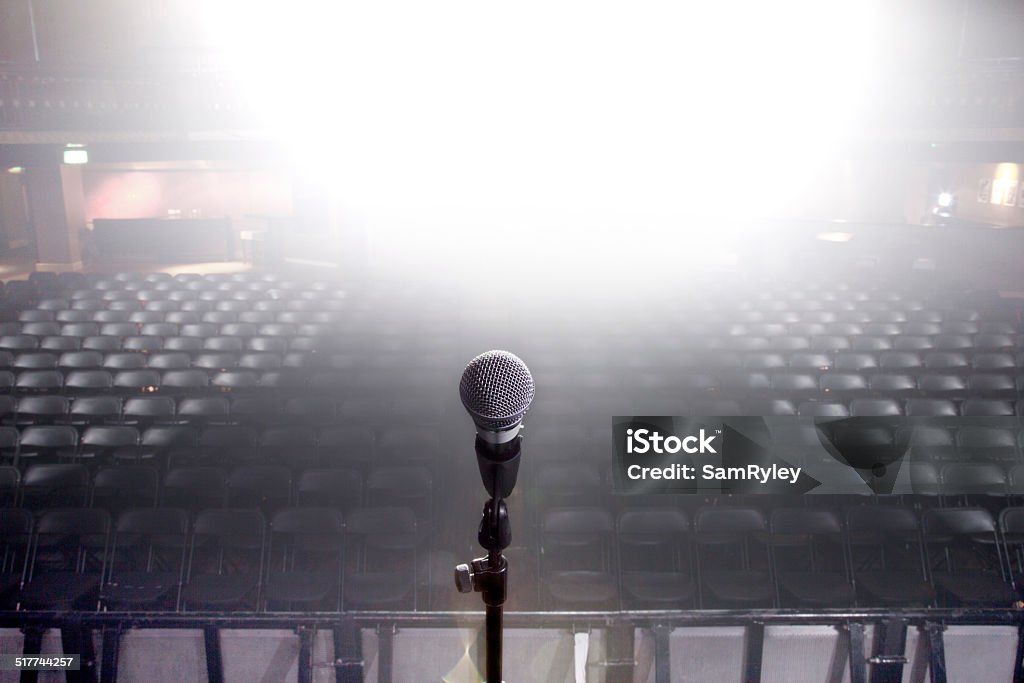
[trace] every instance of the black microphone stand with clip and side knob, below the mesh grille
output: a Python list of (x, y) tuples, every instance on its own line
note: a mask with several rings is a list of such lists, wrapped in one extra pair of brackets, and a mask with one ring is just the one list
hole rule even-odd
[(501, 444), (476, 437), (476, 456), (483, 485), (490, 500), (483, 504), (477, 541), (487, 554), (470, 564), (455, 568), (455, 583), (460, 593), (476, 591), (485, 608), (486, 683), (502, 680), (502, 630), (505, 598), (508, 595), (508, 560), (502, 551), (512, 543), (505, 498), (512, 493), (519, 471), (521, 436)]

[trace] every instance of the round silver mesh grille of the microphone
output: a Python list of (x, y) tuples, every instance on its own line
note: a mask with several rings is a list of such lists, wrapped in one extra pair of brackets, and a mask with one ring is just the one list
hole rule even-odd
[(487, 351), (466, 366), (459, 396), (477, 427), (503, 431), (522, 420), (534, 400), (534, 377), (515, 354)]

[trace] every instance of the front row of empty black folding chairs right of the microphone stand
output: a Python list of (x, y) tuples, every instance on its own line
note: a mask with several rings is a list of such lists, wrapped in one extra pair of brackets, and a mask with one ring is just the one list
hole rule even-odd
[(577, 608), (1010, 606), (1022, 528), (1021, 508), (572, 508), (544, 517), (540, 575)]

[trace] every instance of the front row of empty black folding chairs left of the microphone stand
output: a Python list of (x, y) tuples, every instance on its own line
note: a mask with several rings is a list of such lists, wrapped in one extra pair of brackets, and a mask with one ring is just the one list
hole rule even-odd
[(0, 510), (0, 604), (44, 610), (414, 608), (406, 508)]

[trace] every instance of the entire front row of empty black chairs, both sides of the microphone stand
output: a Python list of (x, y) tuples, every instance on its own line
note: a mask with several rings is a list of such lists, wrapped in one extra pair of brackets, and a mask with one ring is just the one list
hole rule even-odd
[[(2, 598), (25, 609), (413, 608), (437, 579), (408, 508), (0, 510)], [(1001, 606), (1024, 509), (549, 511), (539, 599), (577, 609)], [(424, 574), (427, 575), (424, 575)], [(447, 582), (447, 572), (443, 577)], [(522, 598), (517, 596), (517, 599)]]

